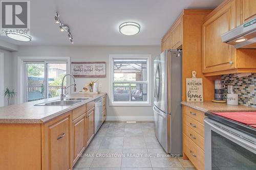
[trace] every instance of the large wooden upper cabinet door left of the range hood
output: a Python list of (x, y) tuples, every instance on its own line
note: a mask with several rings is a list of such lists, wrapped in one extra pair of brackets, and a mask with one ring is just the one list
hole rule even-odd
[(203, 23), (203, 72), (234, 68), (235, 50), (221, 40), (221, 35), (236, 25), (236, 1), (226, 4)]

